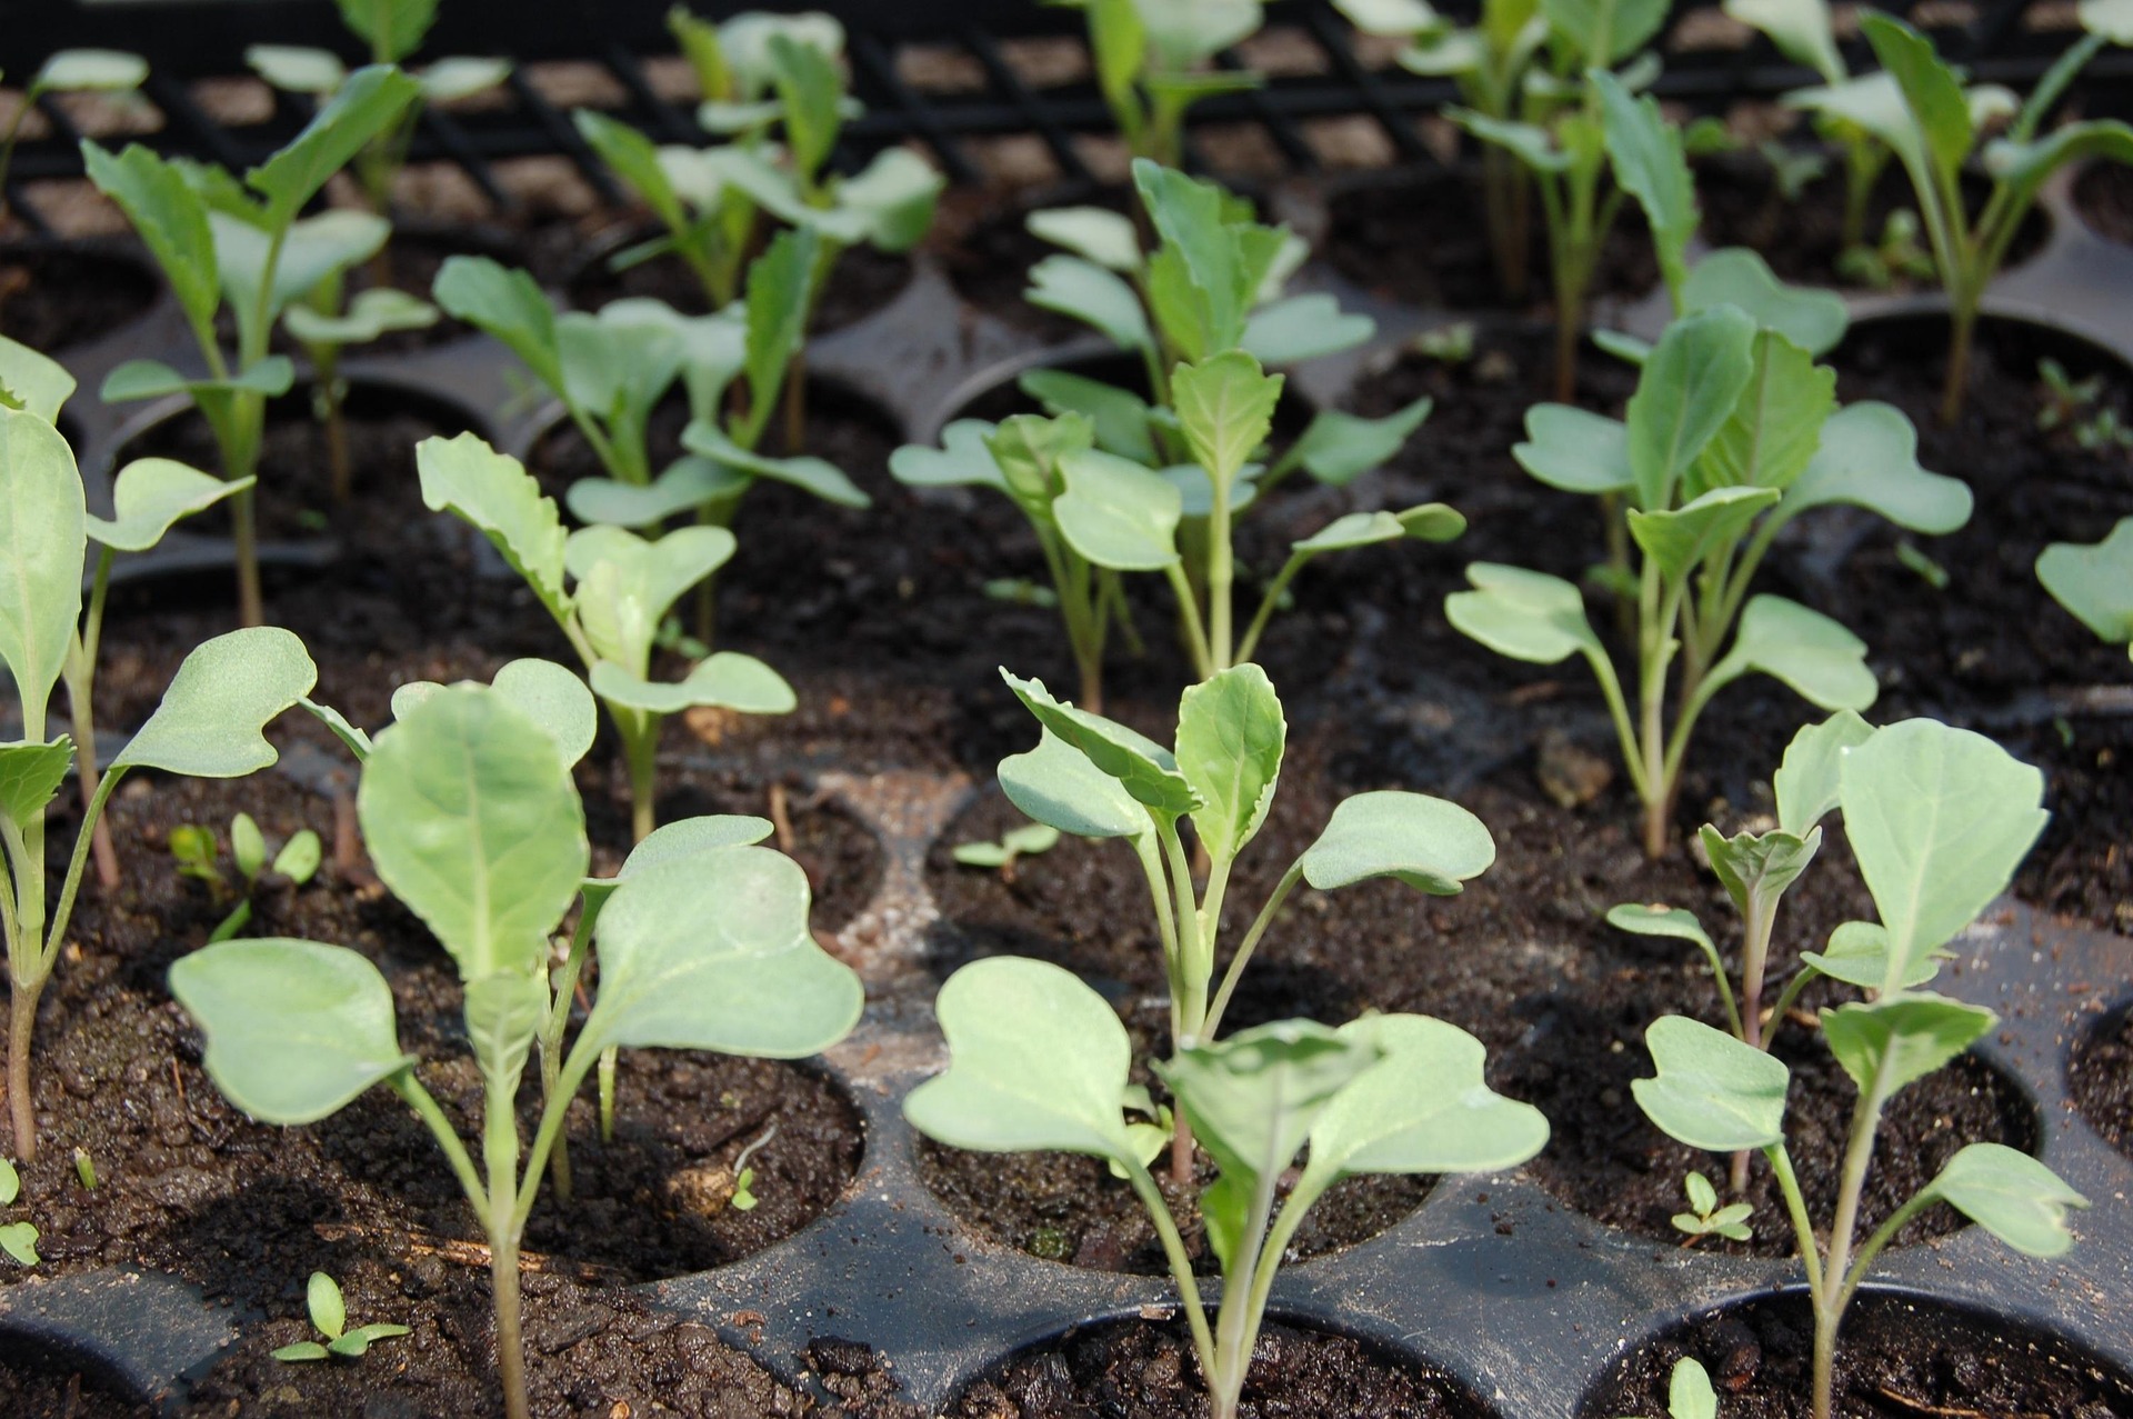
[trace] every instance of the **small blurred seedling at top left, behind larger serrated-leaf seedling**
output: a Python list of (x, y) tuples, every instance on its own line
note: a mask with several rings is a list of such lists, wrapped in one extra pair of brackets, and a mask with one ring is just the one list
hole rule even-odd
[[(369, 49), (371, 64), (401, 64), (422, 47), (429, 28), (437, 21), (442, 0), (339, 0), (341, 23)], [(339, 55), (328, 49), (303, 49), (294, 45), (252, 45), (245, 49), (245, 64), (267, 83), (290, 94), (305, 94), (318, 102), (331, 102), (348, 87), (350, 73)], [(360, 70), (358, 70), (360, 73)], [(392, 216), (392, 181), (407, 164), (407, 145), (422, 122), (422, 105), (446, 105), (471, 98), (510, 79), (508, 60), (474, 60), (454, 55), (435, 60), (407, 77), (418, 85), (418, 102), (407, 109), (356, 152), (356, 184), (363, 201), (378, 216)], [(380, 254), (380, 260), (384, 256)], [(382, 275), (382, 271), (380, 271)], [(378, 282), (384, 286), (386, 282)]]

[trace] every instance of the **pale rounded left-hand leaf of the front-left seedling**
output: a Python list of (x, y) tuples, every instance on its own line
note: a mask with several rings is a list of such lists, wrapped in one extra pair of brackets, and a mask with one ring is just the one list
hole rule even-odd
[(316, 1122), (416, 1063), (386, 977), (343, 945), (222, 941), (171, 964), (171, 994), (207, 1035), (207, 1078), (260, 1122)]

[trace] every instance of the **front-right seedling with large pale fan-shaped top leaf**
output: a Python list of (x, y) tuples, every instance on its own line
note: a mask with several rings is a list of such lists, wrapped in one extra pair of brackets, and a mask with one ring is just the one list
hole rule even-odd
[(1645, 1039), (1657, 1075), (1636, 1080), (1647, 1118), (1689, 1148), (1760, 1150), (1798, 1235), (1815, 1312), (1813, 1413), (1830, 1419), (1837, 1334), (1881, 1248), (1945, 1201), (2016, 1250), (2052, 1257), (2073, 1244), (2067, 1208), (2086, 1199), (2037, 1159), (1969, 1144), (1941, 1174), (1860, 1240), (1860, 1199), (1890, 1099), (1962, 1054), (1999, 1022), (1990, 1009), (1924, 990), (1945, 945), (1977, 920), (2043, 830), (2043, 775), (1969, 730), (1909, 719), (1837, 753), (1834, 807), (1879, 922), (1847, 922), (1809, 964), (1866, 990), (1822, 1009), (1822, 1037), (1858, 1084), (1837, 1210), (1809, 1216), (1785, 1152), (1787, 1067), (1726, 1031), (1683, 1016)]

